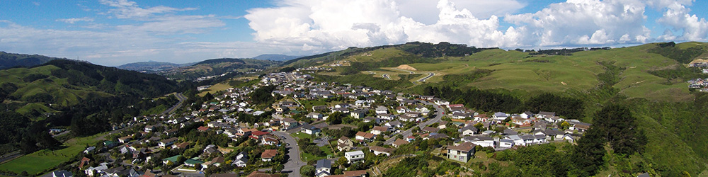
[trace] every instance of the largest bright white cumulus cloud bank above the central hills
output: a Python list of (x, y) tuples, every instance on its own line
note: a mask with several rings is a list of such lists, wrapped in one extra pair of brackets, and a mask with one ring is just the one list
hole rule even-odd
[(497, 30), (497, 16), (480, 19), (452, 1), (438, 1), (435, 7), (438, 11), (426, 14), (438, 17), (430, 25), (402, 15), (393, 0), (285, 0), (279, 7), (250, 9), (244, 17), (258, 42), (302, 45), (315, 51), (409, 41), (515, 46), (523, 30)]

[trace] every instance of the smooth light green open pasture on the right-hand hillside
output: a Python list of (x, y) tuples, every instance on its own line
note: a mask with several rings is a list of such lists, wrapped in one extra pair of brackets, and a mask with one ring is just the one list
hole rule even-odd
[[(703, 45), (703, 43), (688, 43), (685, 45)], [(614, 87), (629, 98), (646, 98), (652, 101), (689, 101), (692, 96), (688, 92), (685, 81), (674, 84), (666, 83), (663, 79), (649, 71), (678, 64), (673, 59), (646, 52), (655, 45), (639, 45), (635, 47), (622, 47), (612, 50), (595, 50), (576, 52), (570, 56), (531, 56), (524, 52), (505, 50), (484, 50), (467, 57), (442, 57), (440, 63), (414, 63), (409, 64), (417, 69), (413, 71), (423, 74), (409, 81), (417, 81), (428, 72), (435, 76), (427, 79), (427, 83), (438, 83), (442, 76), (447, 74), (466, 74), (476, 69), (489, 69), (493, 72), (488, 76), (477, 79), (467, 86), (479, 89), (507, 89), (510, 91), (523, 90), (528, 92), (585, 92), (598, 86), (597, 74), (604, 72), (604, 67), (598, 62), (615, 62), (615, 66), (624, 67), (621, 80)], [(684, 44), (679, 45), (684, 46)], [(382, 51), (391, 55), (392, 48)], [(375, 50), (373, 53), (375, 54)], [(372, 55), (372, 61), (377, 61)], [(357, 56), (357, 61), (367, 56)], [(443, 59), (444, 58), (444, 59)], [(376, 74), (370, 74), (375, 72)], [(376, 78), (382, 74), (389, 74), (394, 80), (400, 79), (398, 74), (410, 74), (401, 69), (390, 67), (380, 68), (378, 71), (363, 71)]]

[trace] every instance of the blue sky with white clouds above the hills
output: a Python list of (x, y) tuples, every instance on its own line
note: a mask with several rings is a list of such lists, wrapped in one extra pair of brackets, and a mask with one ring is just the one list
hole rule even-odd
[(452, 42), (538, 49), (708, 41), (708, 1), (0, 1), (0, 51), (118, 66)]

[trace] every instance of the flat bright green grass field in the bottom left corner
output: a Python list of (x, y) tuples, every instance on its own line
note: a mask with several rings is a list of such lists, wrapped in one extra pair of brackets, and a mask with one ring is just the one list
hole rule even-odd
[(55, 166), (68, 161), (73, 156), (76, 156), (79, 152), (84, 151), (87, 144), (93, 145), (100, 142), (100, 139), (96, 138), (101, 137), (104, 134), (69, 139), (69, 141), (64, 142), (64, 146), (66, 146), (64, 149), (55, 151), (45, 149), (21, 156), (20, 158), (8, 161), (5, 164), (0, 164), (0, 170), (13, 171), (15, 173), (27, 171), (27, 173), (36, 174), (47, 169), (52, 169)]

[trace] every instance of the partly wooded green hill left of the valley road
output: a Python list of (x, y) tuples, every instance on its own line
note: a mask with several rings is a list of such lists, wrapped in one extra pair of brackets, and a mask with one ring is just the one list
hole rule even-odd
[(153, 98), (178, 88), (175, 81), (163, 76), (65, 59), (0, 70), (0, 77), (0, 99), (32, 118), (79, 105), (92, 97)]

